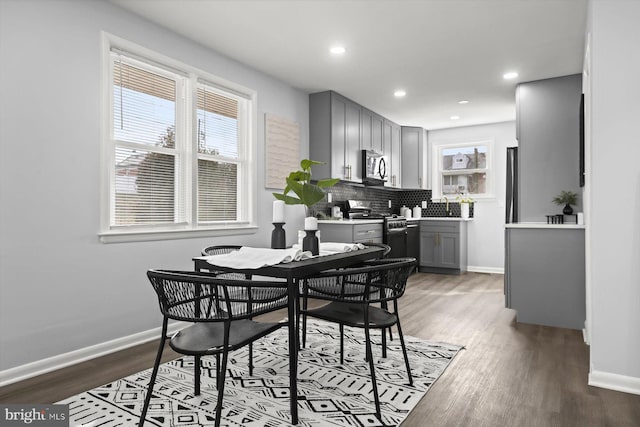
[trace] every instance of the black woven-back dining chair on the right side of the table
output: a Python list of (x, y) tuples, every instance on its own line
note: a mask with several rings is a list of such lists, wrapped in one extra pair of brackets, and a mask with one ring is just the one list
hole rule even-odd
[[(313, 297), (329, 301), (328, 304), (300, 310), (303, 316), (311, 316), (340, 327), (340, 362), (344, 363), (345, 326), (362, 328), (365, 333), (366, 359), (371, 371), (371, 382), (376, 406), (376, 417), (381, 420), (380, 398), (376, 383), (373, 354), (371, 351), (371, 329), (382, 330), (383, 357), (386, 357), (384, 330), (392, 326), (398, 328), (398, 336), (409, 377), (413, 385), (409, 358), (404, 343), (398, 299), (404, 294), (407, 279), (416, 265), (415, 258), (377, 259), (366, 261), (357, 267), (319, 273), (302, 281), (303, 298)], [(393, 311), (378, 307), (382, 302), (392, 303)], [(373, 305), (376, 304), (376, 305)], [(304, 343), (303, 343), (304, 345)]]

